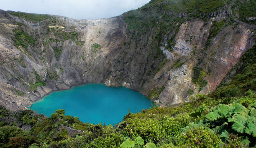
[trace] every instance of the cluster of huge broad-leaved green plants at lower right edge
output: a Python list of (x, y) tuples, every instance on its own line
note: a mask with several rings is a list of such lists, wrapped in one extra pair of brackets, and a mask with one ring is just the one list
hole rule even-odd
[(220, 104), (213, 108), (210, 113), (205, 115), (204, 120), (197, 124), (190, 123), (187, 129), (195, 127), (205, 127), (212, 130), (212, 133), (219, 133), (222, 138), (228, 140), (229, 134), (238, 134), (245, 145), (256, 145), (256, 101), (251, 103), (248, 108), (242, 104), (233, 103), (232, 105)]

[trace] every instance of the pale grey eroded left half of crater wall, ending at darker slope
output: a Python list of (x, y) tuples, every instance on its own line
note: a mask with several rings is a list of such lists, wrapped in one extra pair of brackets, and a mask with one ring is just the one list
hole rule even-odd
[[(109, 59), (125, 42), (120, 17), (40, 22), (1, 11), (1, 104), (24, 109), (53, 90), (103, 83)], [(33, 40), (33, 41), (31, 41)]]

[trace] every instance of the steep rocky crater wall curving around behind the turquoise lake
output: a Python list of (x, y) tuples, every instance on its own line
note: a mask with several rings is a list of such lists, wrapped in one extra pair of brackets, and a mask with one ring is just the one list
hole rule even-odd
[(200, 17), (166, 5), (99, 20), (1, 10), (0, 105), (25, 109), (82, 83), (123, 85), (162, 106), (215, 90), (255, 43), (255, 26), (227, 5)]

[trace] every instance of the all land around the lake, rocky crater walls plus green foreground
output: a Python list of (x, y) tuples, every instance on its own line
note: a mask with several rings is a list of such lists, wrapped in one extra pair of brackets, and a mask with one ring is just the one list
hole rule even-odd
[[(151, 0), (98, 20), (0, 10), (0, 147), (256, 146), (255, 0)], [(159, 106), (93, 125), (27, 106), (84, 83)]]

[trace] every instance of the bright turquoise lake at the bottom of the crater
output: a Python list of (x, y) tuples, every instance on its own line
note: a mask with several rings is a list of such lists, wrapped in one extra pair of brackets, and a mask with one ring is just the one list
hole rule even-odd
[(108, 125), (121, 122), (129, 113), (128, 108), (131, 113), (136, 113), (150, 108), (151, 103), (141, 93), (125, 87), (85, 84), (52, 92), (33, 103), (31, 110), (49, 117), (55, 110), (64, 109), (65, 115), (77, 116), (84, 123)]

